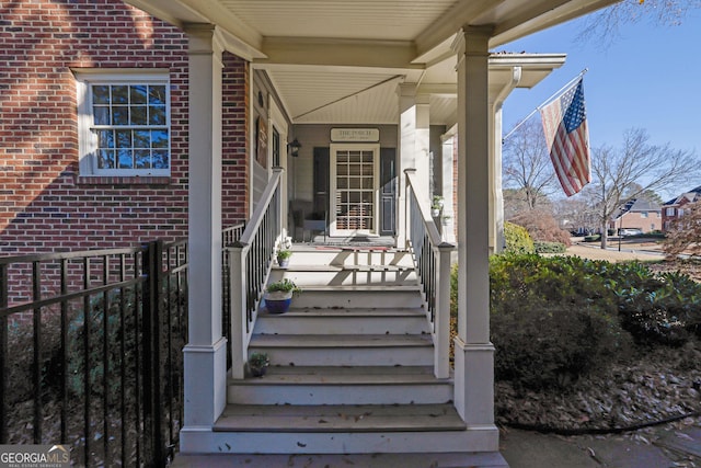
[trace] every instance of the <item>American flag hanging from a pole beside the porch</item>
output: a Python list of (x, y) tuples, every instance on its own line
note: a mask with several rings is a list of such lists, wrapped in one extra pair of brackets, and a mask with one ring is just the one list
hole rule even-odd
[(540, 116), (555, 174), (565, 194), (572, 196), (591, 181), (583, 79), (543, 106)]

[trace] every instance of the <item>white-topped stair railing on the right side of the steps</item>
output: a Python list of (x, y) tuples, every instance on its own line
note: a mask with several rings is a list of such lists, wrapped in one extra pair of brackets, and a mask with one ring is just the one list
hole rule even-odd
[(450, 374), (450, 254), (455, 246), (444, 242), (430, 217), (428, 197), (416, 178), (406, 169), (406, 241), (414, 255), (416, 275), (426, 304), (426, 318), (434, 341), (434, 373), (437, 378)]

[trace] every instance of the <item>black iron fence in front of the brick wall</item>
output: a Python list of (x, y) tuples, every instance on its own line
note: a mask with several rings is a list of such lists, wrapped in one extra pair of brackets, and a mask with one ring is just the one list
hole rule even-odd
[(0, 258), (0, 444), (164, 466), (186, 339), (186, 241)]

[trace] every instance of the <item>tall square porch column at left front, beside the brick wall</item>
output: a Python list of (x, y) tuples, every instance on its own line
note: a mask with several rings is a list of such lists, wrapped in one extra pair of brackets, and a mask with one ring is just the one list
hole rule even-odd
[(181, 450), (211, 431), (226, 404), (221, 335), (221, 53), (210, 24), (189, 25), (189, 320)]

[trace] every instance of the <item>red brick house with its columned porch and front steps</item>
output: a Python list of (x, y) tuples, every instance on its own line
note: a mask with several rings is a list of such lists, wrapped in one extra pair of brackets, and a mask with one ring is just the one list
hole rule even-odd
[[(437, 452), (504, 466), (487, 258), (501, 246), (501, 104), (564, 57), (490, 50), (611, 3), (5, 2), (1, 253), (187, 236), (184, 453)], [(426, 214), (434, 193), (456, 194), (447, 205), (461, 298), (452, 368), (455, 247)], [(387, 237), (391, 249), (364, 251), (367, 263), (342, 248), (309, 253), (314, 260), (300, 251), (297, 271), (273, 267), (275, 240), (298, 226), (294, 202), (341, 243)], [(242, 220), (228, 249), (228, 368), (221, 231)], [(258, 321), (268, 277), (307, 273), (326, 276), (306, 287), (306, 310), (331, 313), (284, 333), (263, 312)], [(340, 297), (353, 320), (337, 317)], [(397, 307), (400, 324), (386, 332)], [(384, 309), (379, 324), (368, 309)], [(252, 350), (296, 377), (246, 379)], [(304, 364), (284, 365), (297, 359)], [(360, 403), (398, 425), (372, 423), (374, 411), (338, 418)], [(258, 407), (265, 414), (251, 418)], [(329, 407), (327, 416), (297, 418)], [(341, 425), (329, 430), (320, 422), (329, 416)]]

